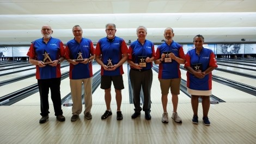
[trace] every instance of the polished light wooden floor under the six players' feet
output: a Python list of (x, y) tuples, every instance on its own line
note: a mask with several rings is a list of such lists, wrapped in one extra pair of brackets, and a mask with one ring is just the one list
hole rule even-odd
[[(171, 103), (168, 103), (169, 105)], [(190, 103), (179, 103), (182, 123), (161, 122), (162, 104), (153, 103), (150, 121), (144, 113), (131, 119), (133, 104), (122, 104), (124, 119), (117, 121), (115, 104), (113, 115), (101, 120), (105, 104), (93, 104), (92, 120), (83, 114), (71, 122), (71, 107), (63, 107), (65, 122), (54, 117), (50, 107), (49, 120), (39, 124), (40, 106), (0, 107), (0, 143), (255, 143), (255, 102), (226, 102), (212, 105), (209, 112), (211, 126), (202, 123), (199, 106), (199, 124), (194, 125)], [(168, 110), (171, 108), (168, 107)]]

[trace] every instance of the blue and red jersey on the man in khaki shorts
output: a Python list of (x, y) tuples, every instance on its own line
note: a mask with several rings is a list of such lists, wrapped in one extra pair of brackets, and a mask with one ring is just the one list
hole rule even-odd
[[(161, 58), (161, 55), (164, 51), (172, 51), (172, 53), (179, 58), (185, 59), (185, 54), (182, 46), (179, 43), (172, 42), (168, 45), (166, 42), (159, 45), (156, 49), (156, 60)], [(180, 74), (180, 64), (175, 60), (172, 62), (161, 62), (159, 64), (159, 74), (158, 78), (160, 79), (172, 79), (172, 78), (181, 78)]]

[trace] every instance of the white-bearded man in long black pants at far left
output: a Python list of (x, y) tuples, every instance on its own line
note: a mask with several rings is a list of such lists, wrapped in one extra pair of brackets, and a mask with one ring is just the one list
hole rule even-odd
[(35, 78), (38, 80), (38, 88), (41, 103), (41, 119), (39, 123), (45, 123), (48, 119), (49, 102), (48, 93), (51, 90), (55, 116), (58, 121), (65, 121), (62, 115), (62, 102), (60, 97), (60, 62), (64, 60), (64, 45), (62, 41), (53, 38), (52, 28), (43, 25), (42, 38), (32, 42), (28, 50), (29, 62), (36, 66)]

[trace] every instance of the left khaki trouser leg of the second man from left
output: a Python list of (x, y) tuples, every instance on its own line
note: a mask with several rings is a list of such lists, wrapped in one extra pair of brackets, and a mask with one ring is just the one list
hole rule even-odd
[(72, 114), (79, 115), (82, 112), (82, 80), (69, 80), (72, 97)]

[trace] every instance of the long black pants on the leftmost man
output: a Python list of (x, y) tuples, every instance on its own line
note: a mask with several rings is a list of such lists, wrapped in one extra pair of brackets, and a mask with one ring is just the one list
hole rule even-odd
[(41, 116), (46, 116), (48, 115), (48, 113), (50, 113), (48, 102), (49, 88), (51, 89), (51, 99), (55, 115), (58, 116), (63, 114), (62, 102), (60, 97), (60, 80), (60, 78), (38, 80), (38, 88), (41, 103)]

